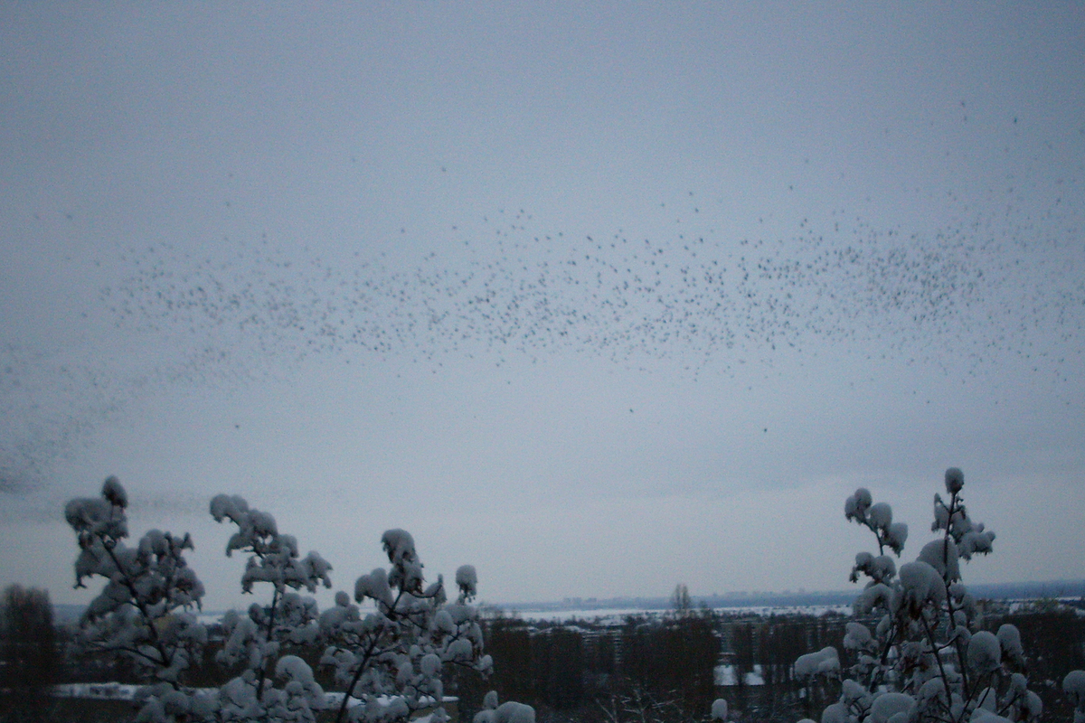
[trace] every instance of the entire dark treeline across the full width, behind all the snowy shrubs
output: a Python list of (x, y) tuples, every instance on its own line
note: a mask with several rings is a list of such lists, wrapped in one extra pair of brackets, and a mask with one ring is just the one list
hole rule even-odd
[[(35, 692), (50, 680), (139, 680), (124, 658), (62, 657), (71, 630), (60, 627), (54, 633), (44, 615), (48, 603), (21, 592), (9, 591), (7, 604), (0, 605), (2, 687), (9, 694), (18, 690), (17, 698), (8, 696), (3, 701), (0, 721), (48, 720), (41, 718), (42, 699)], [(794, 680), (792, 667), (799, 656), (833, 646), (846, 671), (853, 660), (842, 642), (850, 620), (854, 618), (833, 614), (763, 617), (702, 610), (634, 616), (623, 624), (604, 625), (578, 620), (533, 623), (497, 616), (484, 625), (486, 649), (494, 657), (490, 677), (461, 670), (446, 677), (446, 692), (460, 697), (463, 722), (472, 720), (490, 689), (502, 700), (535, 706), (539, 723), (706, 721), (717, 697), (727, 699), (731, 720), (740, 723), (817, 719), (840, 695), (839, 681), (804, 686)], [(1071, 711), (1060, 687), (1069, 671), (1085, 669), (1085, 616), (1054, 603), (1016, 612), (991, 605), (983, 628), (996, 631), (1004, 622), (1021, 632), (1025, 672), (1044, 700), (1044, 720), (1069, 720)], [(202, 664), (191, 671), (192, 685), (219, 685), (238, 672), (215, 661), (220, 638), (214, 632)], [(326, 689), (342, 689), (319, 667), (319, 644), (291, 653), (310, 662)], [(13, 708), (13, 700), (34, 708)]]

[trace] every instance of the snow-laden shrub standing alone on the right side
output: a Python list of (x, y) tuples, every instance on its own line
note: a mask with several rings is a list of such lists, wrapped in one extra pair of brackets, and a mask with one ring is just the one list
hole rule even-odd
[[(901, 555), (907, 526), (894, 522), (890, 506), (873, 503), (865, 489), (845, 502), (845, 518), (868, 528), (878, 542), (877, 555), (856, 555), (851, 574), (853, 582), (867, 580), (855, 614), (876, 616), (877, 622), (873, 630), (858, 621), (847, 623), (844, 647), (854, 663), (841, 684), (840, 699), (822, 713), (822, 723), (1039, 718), (1039, 697), (1027, 688), (1020, 633), (1010, 624), (997, 634), (980, 630), (975, 601), (961, 581), (960, 560), (988, 554), (995, 539), (969, 516), (963, 487), (960, 469), (947, 469), (948, 500), (934, 495), (931, 526), (941, 535), (899, 568), (886, 552)], [(824, 650), (803, 656), (796, 673), (802, 668), (813, 674), (824, 659)]]

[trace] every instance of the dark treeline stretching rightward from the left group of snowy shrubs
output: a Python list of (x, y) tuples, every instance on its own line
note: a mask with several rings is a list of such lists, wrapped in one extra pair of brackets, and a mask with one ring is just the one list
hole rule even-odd
[[(460, 675), (460, 720), (470, 721), (482, 695), (528, 702), (540, 723), (706, 721), (712, 700), (728, 701), (735, 721), (795, 721), (820, 718), (840, 696), (839, 680), (797, 681), (799, 656), (837, 648), (846, 676), (854, 662), (843, 646), (855, 618), (824, 616), (715, 615), (707, 611), (662, 618), (633, 617), (622, 625), (586, 621), (529, 623), (496, 618), (486, 627), (494, 674), (483, 681)], [(873, 627), (877, 620), (860, 620)], [(1033, 605), (1010, 614), (993, 606), (983, 628), (1010, 622), (1021, 631), (1027, 674), (1044, 699), (1045, 720), (1069, 720), (1060, 686), (1071, 670), (1085, 668), (1085, 617), (1073, 608)], [(722, 669), (720, 685), (715, 669)]]

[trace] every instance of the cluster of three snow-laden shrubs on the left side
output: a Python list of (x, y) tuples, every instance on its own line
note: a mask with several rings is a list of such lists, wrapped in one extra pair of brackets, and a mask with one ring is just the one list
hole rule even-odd
[[(375, 610), (362, 616), (358, 605), (340, 591), (335, 605), (321, 612), (314, 593), (331, 588), (331, 565), (317, 553), (298, 554), (297, 541), (280, 533), (275, 518), (239, 496), (217, 495), (210, 514), (229, 520), (237, 531), (226, 545), (247, 553), (241, 588), (271, 586), (270, 601), (254, 603), (244, 615), (227, 614), (220, 662), (240, 666), (240, 675), (218, 690), (196, 690), (183, 684), (184, 671), (206, 642), (206, 630), (191, 608), (199, 608), (204, 589), (186, 564), (192, 548), (186, 534), (151, 530), (138, 547), (128, 547), (125, 509), (128, 498), (116, 478), (105, 480), (102, 494), (72, 500), (65, 507), (80, 553), (76, 584), (99, 576), (106, 584), (88, 606), (80, 627), (84, 648), (124, 655), (150, 679), (137, 696), (145, 723), (293, 723), (316, 721), (329, 707), (312, 670), (291, 646), (323, 645), (322, 664), (334, 669), (347, 689), (336, 721), (407, 721), (423, 708), (435, 708), (430, 720), (447, 720), (441, 708), (442, 671), (446, 664), (488, 672), (483, 655), (478, 610), (472, 605), (477, 574), (464, 565), (456, 572), (459, 595), (448, 603), (438, 577), (426, 585), (414, 541), (404, 530), (382, 538), (391, 567), (358, 578), (358, 603), (372, 601)], [(487, 697), (490, 701), (490, 697)], [(493, 720), (533, 723), (535, 711), (515, 702), (496, 705)], [(357, 705), (352, 705), (357, 703)]]

